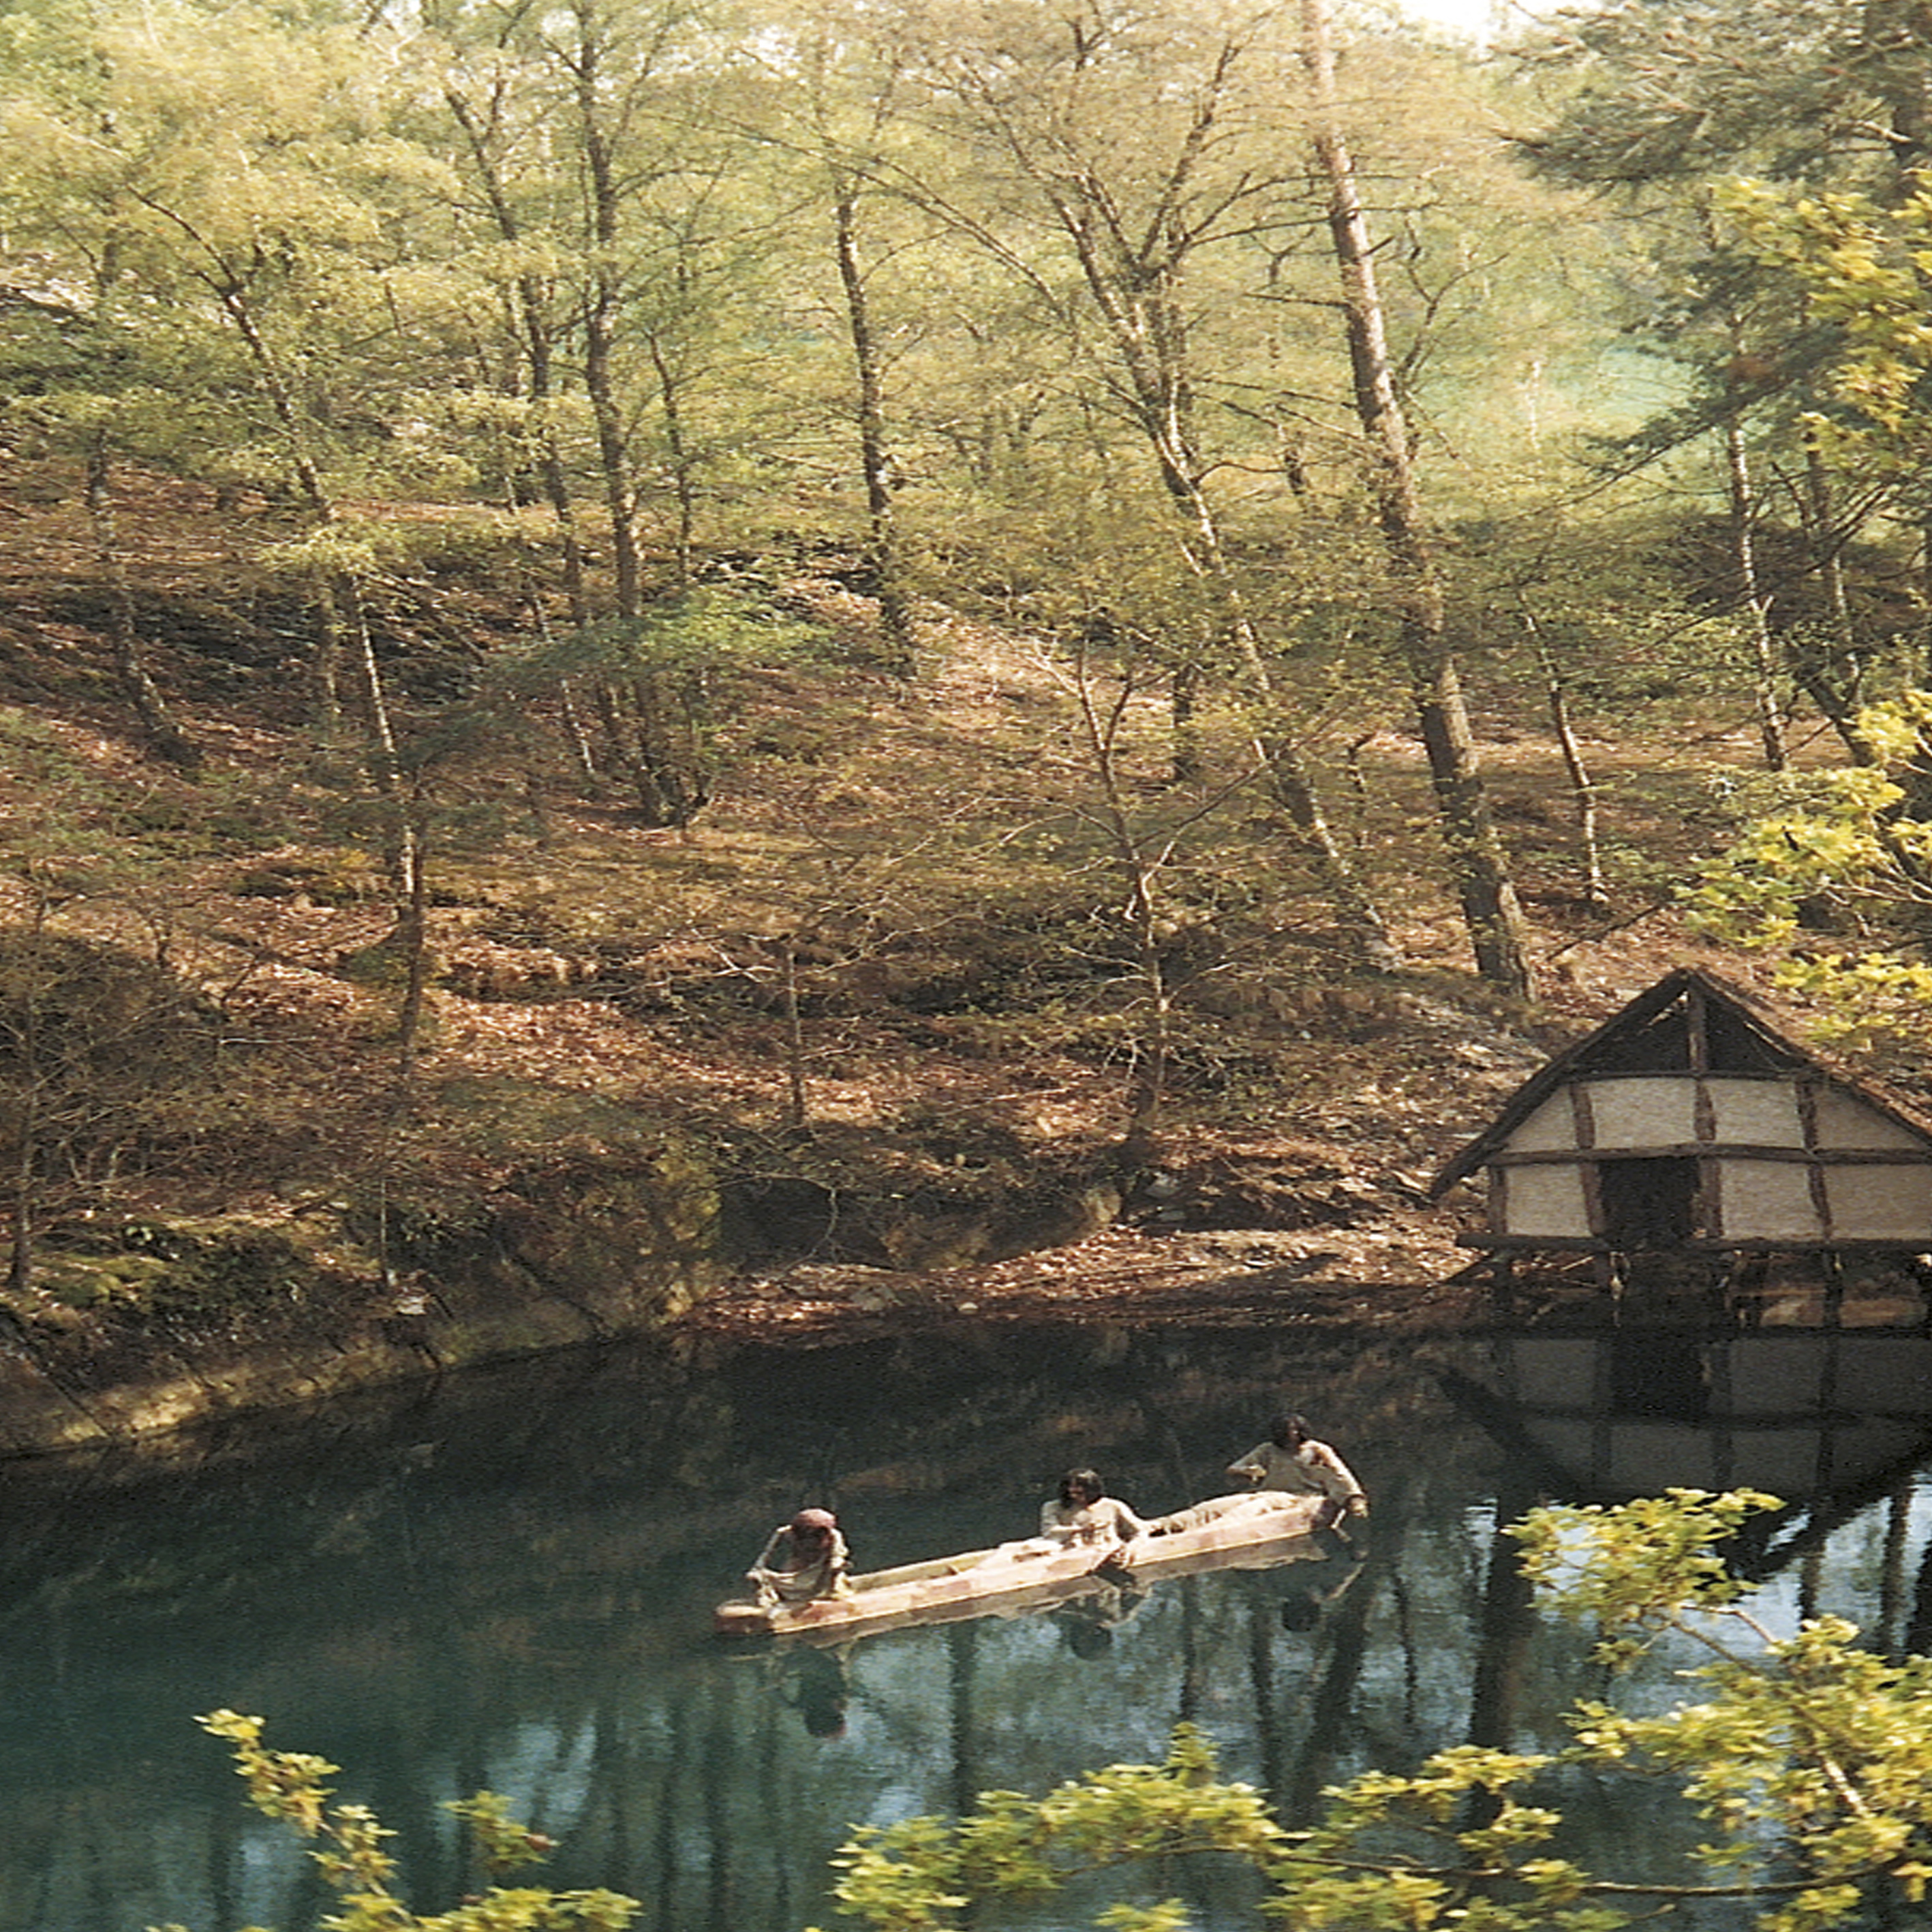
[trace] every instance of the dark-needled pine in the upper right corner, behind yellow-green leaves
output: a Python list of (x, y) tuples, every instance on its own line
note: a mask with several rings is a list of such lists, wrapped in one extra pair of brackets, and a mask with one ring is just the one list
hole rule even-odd
[[(1727, 520), (1702, 601), (1737, 614), (1756, 674), (1768, 763), (1781, 759), (1774, 678), (1810, 697), (1855, 759), (1851, 723), (1895, 657), (1895, 638), (1859, 622), (1845, 582), (1866, 527), (1907, 535), (1922, 580), (1932, 547), (1911, 477), (1833, 437), (1841, 323), (1806, 299), (1774, 249), (1739, 238), (1727, 191), (1748, 174), (1793, 205), (1866, 195), (1909, 199), (1924, 156), (1932, 87), (1918, 0), (1660, 0), (1577, 10), (1522, 46), (1557, 79), (1548, 126), (1520, 139), (1538, 174), (1588, 185), (1633, 216), (1633, 286), (1648, 288), (1652, 340), (1683, 369), (1683, 396), (1611, 458), (1658, 462), (1714, 448)], [(1758, 238), (1762, 243), (1762, 236)], [(1781, 497), (1803, 531), (1774, 545)], [(1806, 578), (1814, 580), (1804, 612)], [(1922, 638), (1920, 653), (1922, 653)], [(1917, 667), (1905, 668), (1917, 682)]]

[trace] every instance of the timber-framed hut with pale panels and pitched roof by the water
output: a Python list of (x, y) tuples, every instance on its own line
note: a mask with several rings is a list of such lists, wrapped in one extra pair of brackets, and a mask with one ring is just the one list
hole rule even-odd
[(1683, 968), (1526, 1080), (1434, 1180), (1476, 1175), (1459, 1236), (1501, 1291), (1716, 1300), (1741, 1320), (1924, 1320), (1932, 1115)]

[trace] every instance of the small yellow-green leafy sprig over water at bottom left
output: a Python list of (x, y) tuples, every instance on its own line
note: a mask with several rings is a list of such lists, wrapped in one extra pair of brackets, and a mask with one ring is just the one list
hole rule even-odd
[(448, 1806), (469, 1826), (487, 1888), (446, 1913), (417, 1915), (396, 1895), (396, 1861), (383, 1849), (394, 1833), (365, 1804), (330, 1803), (325, 1779), (334, 1776), (334, 1764), (309, 1752), (269, 1750), (261, 1718), (218, 1710), (197, 1723), (234, 1747), (255, 1810), (317, 1843), (309, 1857), (342, 1907), (325, 1920), (328, 1932), (622, 1932), (638, 1915), (638, 1901), (616, 1891), (498, 1886), (498, 1878), (553, 1847), (520, 1826), (491, 1791)]

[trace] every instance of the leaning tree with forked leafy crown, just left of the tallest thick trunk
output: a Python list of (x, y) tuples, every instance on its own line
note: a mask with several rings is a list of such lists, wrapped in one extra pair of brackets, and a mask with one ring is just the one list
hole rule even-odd
[[(952, 19), (925, 29), (920, 64), (952, 106), (956, 141), (980, 176), (978, 203), (951, 185), (906, 191), (1018, 276), (1070, 340), (1097, 330), (1097, 412), (1124, 417), (1142, 439), (1215, 653), (1246, 684), (1250, 748), (1347, 945), (1362, 964), (1389, 970), (1397, 947), (1285, 717), (1223, 531), (1213, 481), (1223, 458), (1202, 433), (1200, 257), (1246, 236), (1279, 187), (1252, 71), (1265, 15), (1223, 25), (1186, 8), (1140, 15), (1086, 4), (1047, 33), (1043, 25), (1012, 33), (993, 17), (980, 37)], [(1065, 259), (1041, 249), (1041, 228)], [(1190, 688), (1200, 668), (1182, 663), (1177, 682)]]

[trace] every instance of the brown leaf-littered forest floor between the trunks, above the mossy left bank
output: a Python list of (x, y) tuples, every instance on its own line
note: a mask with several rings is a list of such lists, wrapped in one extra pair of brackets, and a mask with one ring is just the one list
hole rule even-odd
[[(141, 651), (207, 757), (187, 779), (133, 728), (71, 477), (17, 471), (0, 516), (0, 703), (27, 721), (10, 724), (0, 773), (0, 833), (21, 856), (0, 904), (25, 925), (50, 904), (44, 881), (64, 881), (64, 927), (216, 991), (236, 1030), (267, 1043), (251, 1092), (276, 1094), (245, 1130), (201, 1132), (139, 1179), (120, 1175), (114, 1211), (272, 1219), (342, 1192), (371, 1148), (388, 1159), (398, 1146), (396, 987), (361, 970), (394, 904), (313, 777), (290, 618), (247, 560), (261, 531), (185, 485), (124, 489)], [(497, 817), (487, 838), (452, 831), (435, 873), (435, 981), (400, 1134), (419, 1194), (489, 1194), (533, 1150), (611, 1144), (612, 1111), (636, 1107), (701, 1134), (740, 1188), (923, 1196), (939, 1219), (1043, 1179), (1076, 1188), (1119, 1142), (1134, 1030), (1121, 972), (1076, 954), (1103, 951), (1094, 935), (1121, 885), (1082, 831), (1094, 773), (1065, 668), (983, 614), (931, 609), (918, 676), (895, 678), (866, 668), (866, 599), (831, 578), (792, 593), (848, 657), (833, 680), (792, 667), (738, 680), (711, 804), (688, 827), (585, 796), (554, 748), (493, 752), (439, 781), (452, 825), (462, 808)], [(439, 680), (471, 672), (520, 622), (487, 585), (396, 599), (384, 647), (404, 734), (433, 723)], [(1349, 837), (1406, 954), (1401, 974), (1347, 970), (1293, 891), (1277, 813), (1223, 813), (1169, 885), (1173, 1094), (1157, 1157), (1117, 1215), (999, 1258), (895, 1250), (891, 1231), (873, 1252), (773, 1236), (680, 1327), (815, 1341), (935, 1314), (1211, 1310), (1381, 1331), (1480, 1318), (1480, 1291), (1455, 1279), (1474, 1202), (1432, 1200), (1432, 1175), (1549, 1053), (1663, 972), (1752, 976), (1671, 904), (1721, 837), (1714, 779), (1754, 765), (1748, 705), (1685, 690), (1586, 719), (1611, 854), (1604, 912), (1578, 891), (1555, 746), (1503, 724), (1534, 709), (1507, 676), (1499, 663), (1472, 688), (1536, 933), (1532, 1007), (1468, 968), (1428, 856), (1422, 752), (1397, 717), (1349, 746)], [(1331, 738), (1314, 750), (1339, 769), (1339, 726)], [(33, 752), (48, 744), (52, 781)], [(1163, 786), (1151, 771), (1136, 782), (1159, 823)], [(796, 1026), (777, 991), (781, 947), (804, 964)], [(466, 1111), (485, 1094), (498, 1126), (516, 1115), (498, 1138)]]

